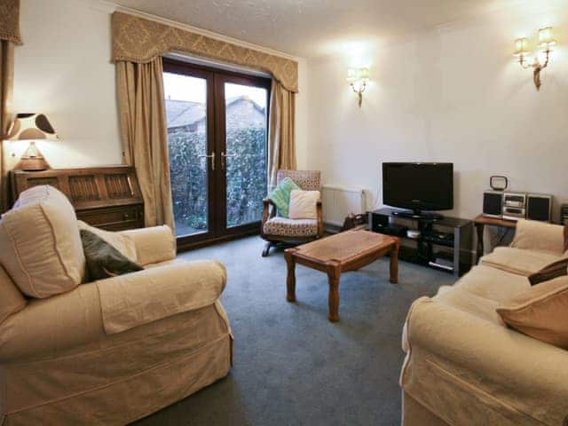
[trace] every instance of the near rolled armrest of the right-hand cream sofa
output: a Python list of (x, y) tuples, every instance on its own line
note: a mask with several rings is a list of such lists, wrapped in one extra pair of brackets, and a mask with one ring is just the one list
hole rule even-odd
[(465, 387), (477, 393), (470, 400), (493, 395), (496, 406), (515, 407), (542, 424), (563, 424), (568, 351), (427, 297), (411, 307), (405, 337), (401, 384), (411, 396), (436, 405), (453, 398), (448, 391)]

